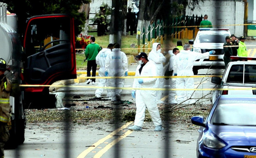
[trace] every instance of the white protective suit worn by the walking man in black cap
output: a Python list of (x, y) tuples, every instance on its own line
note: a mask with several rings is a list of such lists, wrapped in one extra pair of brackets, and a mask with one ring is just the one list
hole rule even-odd
[[(141, 74), (139, 74), (139, 64), (136, 69), (135, 77), (147, 77), (147, 76), (157, 76), (157, 69), (154, 62), (147, 62), (142, 68)], [(143, 83), (139, 84), (139, 78), (135, 78), (132, 84), (132, 88), (155, 88), (155, 82), (157, 78), (142, 78)], [(142, 127), (146, 108), (154, 122), (155, 126), (162, 125), (160, 114), (156, 103), (156, 91), (155, 90), (133, 90), (135, 92), (135, 102), (136, 102), (136, 115), (134, 120), (134, 125)]]

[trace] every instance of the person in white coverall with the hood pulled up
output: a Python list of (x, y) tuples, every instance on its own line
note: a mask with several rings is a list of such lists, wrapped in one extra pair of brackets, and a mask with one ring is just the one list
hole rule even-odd
[[(156, 64), (157, 67), (157, 76), (164, 76), (164, 67), (163, 63), (166, 62), (166, 58), (161, 53), (161, 44), (160, 43), (153, 43), (152, 44), (152, 51), (149, 52), (149, 61), (152, 61)], [(163, 88), (164, 87), (164, 78), (157, 78), (156, 81), (156, 88)], [(157, 91), (157, 104), (163, 104), (164, 102), (161, 101), (162, 91)]]

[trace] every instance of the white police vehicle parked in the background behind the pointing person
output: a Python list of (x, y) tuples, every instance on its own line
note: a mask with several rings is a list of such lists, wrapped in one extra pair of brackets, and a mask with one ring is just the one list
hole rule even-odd
[(189, 40), (193, 44), (193, 51), (205, 53), (215, 50), (209, 58), (198, 59), (194, 62), (193, 72), (198, 74), (199, 69), (224, 69), (223, 44), (225, 37), (230, 36), (229, 28), (199, 28), (195, 40)]

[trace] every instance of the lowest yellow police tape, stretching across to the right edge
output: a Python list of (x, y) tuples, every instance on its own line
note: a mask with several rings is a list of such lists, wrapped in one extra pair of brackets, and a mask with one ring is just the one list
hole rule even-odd
[(220, 88), (206, 88), (206, 89), (168, 89), (168, 88), (132, 88), (132, 87), (104, 87), (104, 86), (66, 86), (66, 85), (40, 85), (40, 84), (20, 84), (22, 87), (67, 87), (67, 88), (92, 88), (92, 89), (98, 89), (98, 88), (103, 88), (103, 89), (124, 89), (124, 90), (154, 90), (154, 91), (162, 91), (162, 90), (167, 90), (167, 91), (224, 91), (224, 90), (256, 90), (256, 88), (239, 88), (239, 89), (220, 89)]

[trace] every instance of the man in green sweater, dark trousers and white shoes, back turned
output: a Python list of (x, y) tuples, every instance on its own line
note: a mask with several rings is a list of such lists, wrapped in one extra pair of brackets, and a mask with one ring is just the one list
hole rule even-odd
[[(85, 59), (87, 59), (87, 77), (91, 77), (91, 70), (92, 70), (92, 77), (96, 76), (96, 56), (99, 53), (101, 48), (99, 44), (95, 43), (95, 37), (90, 38), (90, 44), (87, 45), (85, 49)], [(95, 84), (95, 79), (87, 79), (86, 84), (89, 84), (92, 81), (92, 84)]]

